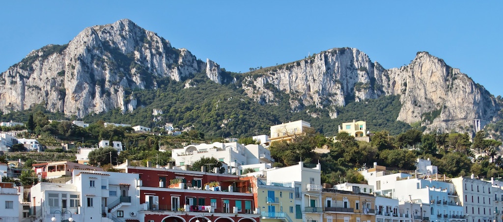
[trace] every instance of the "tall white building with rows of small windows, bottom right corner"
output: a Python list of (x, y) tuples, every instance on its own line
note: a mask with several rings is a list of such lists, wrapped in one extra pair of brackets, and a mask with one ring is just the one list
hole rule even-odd
[(473, 174), (471, 177), (452, 178), (452, 183), (459, 195), (460, 205), (463, 206), (465, 215), (468, 215), (468, 222), (489, 222), (495, 219), (494, 214), (500, 211), (495, 207), (495, 199), (498, 198), (496, 193), (501, 194), (501, 188), (493, 187), (491, 182), (475, 179)]

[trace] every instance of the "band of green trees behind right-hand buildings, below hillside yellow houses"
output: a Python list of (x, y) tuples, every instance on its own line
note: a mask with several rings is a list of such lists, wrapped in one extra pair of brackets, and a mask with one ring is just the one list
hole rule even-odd
[[(274, 143), (271, 155), (276, 166), (294, 165), (302, 159), (306, 163), (321, 163), (322, 182), (364, 182), (355, 170), (372, 166), (374, 162), (388, 169), (415, 170), (417, 158), (430, 158), (440, 174), (449, 177), (471, 173), (483, 178), (503, 173), (503, 159), (498, 152), (501, 142), (484, 139), (478, 132), (470, 142), (468, 134), (423, 134), (410, 129), (397, 136), (387, 131), (376, 132), (371, 142), (357, 141), (347, 133), (340, 133), (334, 142), (315, 131), (294, 136), (291, 143)], [(327, 152), (315, 152), (316, 148)], [(477, 158), (475, 158), (477, 156)], [(398, 172), (398, 171), (396, 171)]]

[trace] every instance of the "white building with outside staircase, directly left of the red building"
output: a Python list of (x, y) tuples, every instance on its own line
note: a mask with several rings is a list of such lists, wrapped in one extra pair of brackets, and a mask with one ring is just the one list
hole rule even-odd
[(35, 221), (59, 220), (70, 216), (74, 221), (101, 222), (138, 220), (138, 174), (74, 170), (67, 184), (41, 182), (31, 188), (31, 207)]

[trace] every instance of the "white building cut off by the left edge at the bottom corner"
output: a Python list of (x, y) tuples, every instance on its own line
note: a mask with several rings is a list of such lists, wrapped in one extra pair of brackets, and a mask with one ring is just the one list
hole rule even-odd
[(0, 182), (0, 221), (18, 222), (19, 195), (14, 183)]

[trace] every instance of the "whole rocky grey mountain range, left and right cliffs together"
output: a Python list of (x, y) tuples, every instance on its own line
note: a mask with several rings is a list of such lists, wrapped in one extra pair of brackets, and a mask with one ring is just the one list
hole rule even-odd
[(398, 121), (430, 130), (459, 130), (472, 120), (499, 118), (493, 95), (427, 52), (417, 53), (408, 65), (385, 69), (358, 49), (336, 48), (231, 77), (215, 62), (173, 48), (129, 20), (89, 27), (66, 45), (31, 52), (0, 74), (0, 107), (10, 112), (43, 103), (52, 112), (77, 117), (117, 107), (128, 112), (141, 105), (133, 90), (190, 80), (196, 73), (236, 84), (261, 104), (278, 104), (281, 91), (289, 95), (292, 111), (315, 106), (328, 109), (331, 118), (348, 102), (381, 95), (400, 95)]

